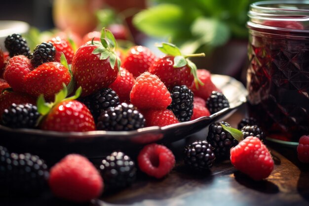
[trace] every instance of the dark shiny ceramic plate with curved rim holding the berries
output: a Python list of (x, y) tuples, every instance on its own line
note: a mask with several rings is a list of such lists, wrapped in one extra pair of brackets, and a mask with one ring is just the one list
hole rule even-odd
[(214, 121), (231, 115), (246, 101), (247, 91), (241, 82), (229, 76), (212, 75), (213, 82), (229, 99), (230, 108), (210, 117), (171, 124), (151, 126), (134, 131), (54, 132), (37, 129), (11, 129), (0, 125), (0, 144), (13, 152), (31, 152), (45, 158), (63, 157), (67, 153), (80, 153), (87, 157), (100, 157), (116, 149), (140, 147), (151, 142), (172, 143), (193, 134)]

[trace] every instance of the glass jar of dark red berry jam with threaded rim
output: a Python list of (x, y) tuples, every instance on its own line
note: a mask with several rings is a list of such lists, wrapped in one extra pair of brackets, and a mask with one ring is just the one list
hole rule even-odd
[(247, 90), (249, 114), (268, 137), (309, 134), (309, 1), (251, 4)]

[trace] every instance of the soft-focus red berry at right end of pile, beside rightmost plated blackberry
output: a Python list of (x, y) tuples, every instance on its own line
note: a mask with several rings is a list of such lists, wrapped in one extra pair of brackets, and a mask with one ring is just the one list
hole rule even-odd
[(196, 85), (193, 84), (192, 91), (194, 93), (194, 98), (198, 96), (207, 101), (207, 98), (211, 95), (212, 91), (220, 91), (220, 89), (218, 89), (216, 85), (211, 81), (211, 74), (209, 71), (205, 69), (198, 69), (197, 77), (201, 82), (204, 83), (204, 85), (198, 84), (197, 89)]

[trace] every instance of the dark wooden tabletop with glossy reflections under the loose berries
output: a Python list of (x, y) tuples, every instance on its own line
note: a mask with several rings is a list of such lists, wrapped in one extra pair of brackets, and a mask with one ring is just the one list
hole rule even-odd
[[(236, 126), (244, 116), (244, 106), (226, 122)], [(204, 129), (189, 138), (206, 137)], [(206, 173), (192, 173), (181, 161), (185, 141), (171, 146), (177, 165), (164, 179), (155, 180), (138, 173), (130, 188), (104, 194), (84, 206), (307, 206), (309, 205), (309, 164), (297, 160), (296, 148), (270, 144), (274, 170), (264, 181), (255, 182), (235, 170), (230, 161), (216, 163)], [(0, 206), (75, 206), (44, 193), (37, 198), (1, 197)], [(80, 206), (80, 205), (79, 205)]]

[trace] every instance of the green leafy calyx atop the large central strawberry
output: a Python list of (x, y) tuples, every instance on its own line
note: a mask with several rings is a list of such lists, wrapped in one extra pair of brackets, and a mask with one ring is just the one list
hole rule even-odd
[(112, 69), (114, 69), (115, 64), (117, 62), (117, 69), (120, 71), (120, 64), (121, 60), (116, 54), (116, 47), (117, 47), (117, 41), (113, 35), (113, 33), (105, 29), (103, 27), (101, 31), (101, 37), (100, 41), (93, 41), (94, 38), (91, 41), (92, 45), (96, 45), (97, 48), (95, 48), (92, 53), (93, 54), (100, 54), (100, 59), (105, 60), (107, 58), (110, 58), (110, 65)]

